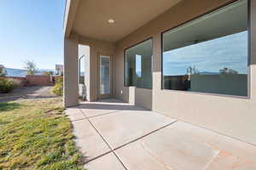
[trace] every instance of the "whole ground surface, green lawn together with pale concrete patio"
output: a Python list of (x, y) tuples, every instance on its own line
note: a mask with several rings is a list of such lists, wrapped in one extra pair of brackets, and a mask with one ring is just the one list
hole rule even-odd
[[(1, 169), (254, 170), (256, 145), (118, 99), (0, 103)], [(68, 120), (69, 118), (69, 120)]]

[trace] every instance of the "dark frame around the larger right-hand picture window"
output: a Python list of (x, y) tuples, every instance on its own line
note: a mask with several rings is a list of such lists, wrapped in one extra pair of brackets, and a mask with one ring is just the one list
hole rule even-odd
[(160, 34), (160, 47), (161, 47), (161, 54), (160, 54), (160, 59), (161, 59), (161, 84), (160, 84), (160, 90), (162, 91), (166, 91), (166, 92), (177, 92), (177, 93), (181, 93), (181, 94), (202, 94), (202, 95), (211, 95), (211, 96), (220, 96), (220, 97), (229, 97), (229, 98), (236, 98), (236, 99), (251, 99), (251, 48), (252, 48), (252, 43), (251, 43), (251, 0), (247, 0), (247, 42), (248, 42), (248, 49), (247, 49), (247, 69), (248, 69), (248, 73), (247, 73), (247, 96), (238, 96), (238, 95), (230, 95), (230, 94), (212, 94), (212, 93), (202, 93), (202, 92), (190, 92), (190, 91), (182, 91), (182, 90), (174, 90), (174, 89), (164, 89), (163, 88), (163, 81), (164, 81), (164, 75), (163, 75), (163, 54), (164, 54), (164, 33), (166, 33), (167, 31), (171, 31), (173, 29), (176, 29), (180, 26), (183, 26), (185, 24), (188, 24), (189, 22), (192, 22), (194, 20), (200, 19), (201, 17), (207, 15), (207, 14), (211, 14), (215, 11), (217, 11), (218, 9), (221, 8), (225, 8), (228, 5), (231, 5), (232, 3), (237, 3), (240, 0), (234, 0), (234, 1), (230, 1), (229, 3), (224, 3), (221, 6), (218, 6), (217, 8), (212, 8), (211, 10), (209, 10), (206, 13), (203, 14), (199, 14), (197, 16), (195, 16), (194, 18), (190, 19), (190, 20), (185, 20), (183, 21), (181, 24), (178, 24), (177, 26), (173, 26), (172, 28), (167, 29), (166, 31), (162, 31)]

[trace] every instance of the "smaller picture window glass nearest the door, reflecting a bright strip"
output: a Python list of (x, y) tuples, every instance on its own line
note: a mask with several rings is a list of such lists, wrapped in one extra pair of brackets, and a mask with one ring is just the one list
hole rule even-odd
[(125, 86), (152, 88), (152, 39), (125, 50)]

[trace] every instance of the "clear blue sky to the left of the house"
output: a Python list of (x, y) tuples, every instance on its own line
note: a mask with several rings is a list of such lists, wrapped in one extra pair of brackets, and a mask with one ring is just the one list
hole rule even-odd
[(40, 69), (63, 64), (62, 20), (65, 0), (0, 0), (0, 64)]

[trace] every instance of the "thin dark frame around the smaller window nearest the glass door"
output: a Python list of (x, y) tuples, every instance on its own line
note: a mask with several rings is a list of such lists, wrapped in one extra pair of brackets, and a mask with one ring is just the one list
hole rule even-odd
[[(125, 57), (125, 52), (126, 52), (126, 50), (127, 49), (129, 49), (129, 48), (133, 48), (133, 47), (135, 47), (135, 46), (137, 46), (137, 45), (139, 45), (140, 43), (143, 43), (143, 42), (147, 42), (148, 40), (151, 40), (151, 42), (152, 42), (152, 56), (151, 56), (151, 87), (153, 88), (153, 57), (154, 57), (154, 38), (153, 37), (148, 37), (148, 38), (146, 38), (146, 39), (144, 39), (143, 41), (140, 41), (140, 42), (137, 42), (137, 43), (135, 43), (135, 44), (133, 44), (133, 45), (131, 45), (131, 46), (129, 46), (129, 47), (127, 47), (127, 48), (125, 48), (124, 49), (124, 87), (126, 87), (126, 88), (129, 88), (129, 87), (136, 87), (136, 86), (126, 86), (126, 79), (125, 79), (125, 73), (126, 73), (126, 69), (125, 69), (125, 63), (126, 63), (126, 57)], [(137, 88), (137, 87), (136, 87)], [(150, 89), (150, 90), (152, 90), (152, 88), (143, 88), (143, 89)]]

